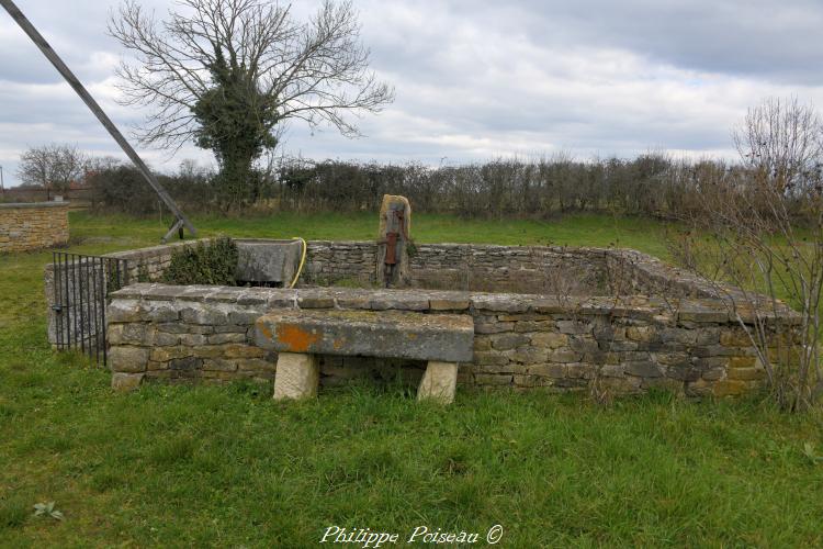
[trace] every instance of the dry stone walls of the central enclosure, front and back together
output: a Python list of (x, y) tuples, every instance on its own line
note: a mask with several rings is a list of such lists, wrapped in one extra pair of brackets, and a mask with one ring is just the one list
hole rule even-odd
[[(132, 281), (156, 281), (173, 250), (190, 244), (113, 256), (128, 261)], [(375, 260), (374, 243), (309, 242), (303, 288), (295, 290), (142, 282), (114, 292), (106, 314), (113, 384), (271, 380), (278, 357), (255, 345), (253, 323), (279, 310), (469, 315), (474, 352), (460, 365), (459, 383), (470, 386), (610, 393), (664, 386), (720, 396), (745, 392), (765, 377), (754, 346), (736, 316), (730, 317), (728, 298), (736, 290), (644, 254), (420, 245), (412, 254), (412, 281), (435, 289), (311, 287), (370, 285)], [(736, 313), (754, 322), (754, 313)], [(781, 322), (796, 322), (790, 310), (783, 313)], [(425, 369), (420, 361), (335, 355), (319, 362), (324, 385), (358, 377), (416, 383)]]

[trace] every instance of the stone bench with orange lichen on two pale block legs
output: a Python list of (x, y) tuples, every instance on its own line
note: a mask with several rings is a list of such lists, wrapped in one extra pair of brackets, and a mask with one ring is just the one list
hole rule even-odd
[(419, 399), (454, 400), (458, 362), (473, 358), (469, 315), (399, 311), (294, 311), (266, 314), (255, 323), (255, 343), (278, 351), (274, 399), (317, 394), (317, 355), (427, 360)]

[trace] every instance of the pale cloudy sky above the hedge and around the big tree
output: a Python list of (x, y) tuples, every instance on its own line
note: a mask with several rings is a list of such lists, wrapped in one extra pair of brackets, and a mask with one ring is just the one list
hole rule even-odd
[[(16, 0), (123, 130), (124, 54), (105, 34), (115, 0)], [(158, 14), (173, 2), (145, 0)], [(317, 1), (296, 1), (309, 13)], [(396, 100), (363, 136), (293, 124), (282, 152), (429, 165), (563, 152), (579, 159), (650, 149), (732, 157), (731, 128), (770, 96), (823, 105), (820, 0), (354, 0), (372, 68)], [(0, 10), (0, 165), (16, 184), (26, 147), (119, 154), (97, 120)], [(140, 149), (157, 169), (213, 163), (193, 146)]]

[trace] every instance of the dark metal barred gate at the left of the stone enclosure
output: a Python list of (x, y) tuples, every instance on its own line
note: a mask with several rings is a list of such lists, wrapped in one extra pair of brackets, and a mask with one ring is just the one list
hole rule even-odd
[(105, 305), (109, 293), (128, 284), (128, 262), (65, 251), (55, 251), (53, 261), (52, 327), (57, 350), (79, 349), (105, 365)]

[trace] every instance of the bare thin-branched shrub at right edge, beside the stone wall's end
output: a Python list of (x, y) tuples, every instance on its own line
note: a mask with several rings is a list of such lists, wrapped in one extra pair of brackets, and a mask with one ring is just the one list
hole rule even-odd
[(717, 281), (778, 402), (796, 411), (823, 395), (822, 137), (811, 105), (767, 100), (749, 110), (734, 134), (744, 169), (701, 181), (699, 208), (675, 246)]

